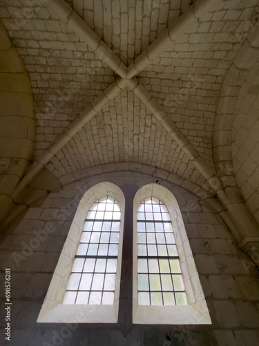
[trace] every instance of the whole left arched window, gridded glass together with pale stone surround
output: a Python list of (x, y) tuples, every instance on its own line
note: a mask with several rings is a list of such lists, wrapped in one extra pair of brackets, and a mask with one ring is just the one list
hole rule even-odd
[(77, 212), (37, 322), (117, 322), (124, 194), (104, 182), (74, 199)]

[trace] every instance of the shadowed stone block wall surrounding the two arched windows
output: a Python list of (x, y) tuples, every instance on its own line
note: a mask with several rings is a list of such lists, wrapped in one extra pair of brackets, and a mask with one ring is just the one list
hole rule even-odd
[[(36, 322), (79, 199), (100, 181), (119, 185), (126, 199), (129, 190), (155, 183), (132, 172), (85, 179), (49, 194), (40, 208), (30, 208), (18, 226), (10, 226), (0, 245), (0, 327), (3, 340), (4, 269), (11, 268), (12, 340), (1, 345), (259, 345), (258, 271), (236, 248), (216, 212), (186, 190), (163, 181), (158, 183), (173, 192), (182, 211), (212, 325), (193, 326), (191, 320), (189, 325), (132, 325), (132, 311), (126, 311), (126, 320), (119, 318), (115, 325)], [(131, 231), (126, 226), (124, 230)]]

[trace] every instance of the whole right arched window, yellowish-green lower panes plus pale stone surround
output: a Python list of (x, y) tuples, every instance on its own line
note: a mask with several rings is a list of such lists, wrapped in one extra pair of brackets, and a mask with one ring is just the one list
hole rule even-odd
[(210, 324), (173, 194), (161, 185), (144, 185), (135, 194), (133, 218), (133, 323)]

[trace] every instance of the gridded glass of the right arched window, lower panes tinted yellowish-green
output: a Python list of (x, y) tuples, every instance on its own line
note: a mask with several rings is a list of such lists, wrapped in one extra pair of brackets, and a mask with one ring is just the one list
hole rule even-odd
[(137, 256), (139, 304), (187, 304), (169, 212), (153, 197), (137, 212)]

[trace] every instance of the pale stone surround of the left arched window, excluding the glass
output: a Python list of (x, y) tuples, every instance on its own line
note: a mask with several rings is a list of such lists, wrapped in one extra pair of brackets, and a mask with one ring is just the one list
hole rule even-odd
[[(119, 228), (119, 248), (117, 257), (117, 274), (115, 280), (115, 298), (113, 305), (97, 304), (62, 304), (70, 273), (79, 246), (81, 233), (88, 210), (93, 203), (102, 197), (117, 200), (121, 211)], [(122, 244), (124, 231), (125, 198), (122, 190), (108, 181), (97, 183), (86, 191), (79, 201), (77, 212), (70, 226), (59, 261), (53, 273), (44, 304), (41, 307), (37, 322), (53, 323), (116, 323), (119, 311), (119, 282), (122, 269)]]

